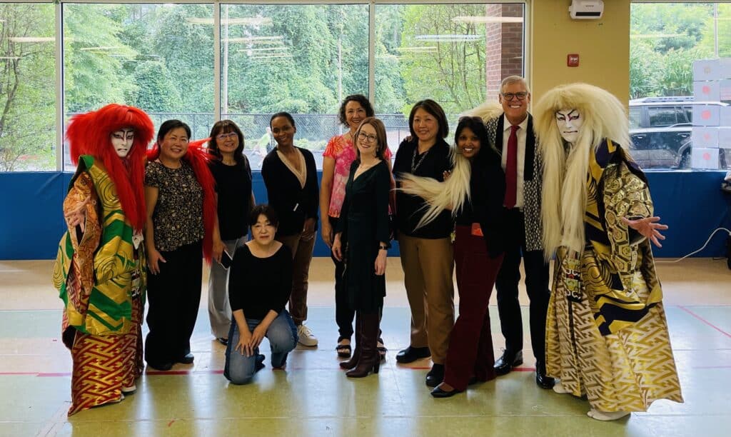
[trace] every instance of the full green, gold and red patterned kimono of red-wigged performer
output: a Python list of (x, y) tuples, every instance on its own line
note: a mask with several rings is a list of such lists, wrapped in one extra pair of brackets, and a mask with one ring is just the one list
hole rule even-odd
[(113, 181), (92, 156), (80, 156), (64, 215), (85, 199), (91, 201), (84, 232), (69, 227), (53, 267), (53, 285), (65, 305), (62, 338), (73, 360), (69, 416), (118, 402), (143, 369), (144, 245)]

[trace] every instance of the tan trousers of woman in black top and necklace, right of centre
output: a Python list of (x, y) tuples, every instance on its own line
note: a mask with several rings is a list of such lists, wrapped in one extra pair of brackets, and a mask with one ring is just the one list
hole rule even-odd
[(412, 311), (411, 346), (429, 346), (431, 360), (444, 364), (455, 321), (452, 243), (399, 235), (398, 246)]

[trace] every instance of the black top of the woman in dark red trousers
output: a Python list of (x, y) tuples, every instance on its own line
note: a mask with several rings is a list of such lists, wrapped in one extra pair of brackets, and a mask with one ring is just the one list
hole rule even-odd
[(488, 254), (497, 257), (505, 250), (505, 173), (496, 151), (485, 147), (474, 157), (469, 186), (469, 202), (458, 211), (455, 221), (462, 226), (479, 223)]

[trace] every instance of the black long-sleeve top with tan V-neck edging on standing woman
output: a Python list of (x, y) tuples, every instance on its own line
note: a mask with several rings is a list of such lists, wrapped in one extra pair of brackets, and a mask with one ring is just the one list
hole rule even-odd
[(312, 153), (297, 148), (305, 157), (307, 178), (304, 188), (276, 153), (270, 151), (262, 161), (262, 178), (267, 187), (269, 205), (279, 216), (277, 235), (299, 235), (307, 218), (317, 221), (319, 210), (319, 189), (317, 187), (317, 167)]

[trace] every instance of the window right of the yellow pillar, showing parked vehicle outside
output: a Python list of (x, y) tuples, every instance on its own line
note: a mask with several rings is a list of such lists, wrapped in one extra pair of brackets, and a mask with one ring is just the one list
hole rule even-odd
[(632, 4), (629, 68), (642, 167), (731, 167), (731, 3)]

